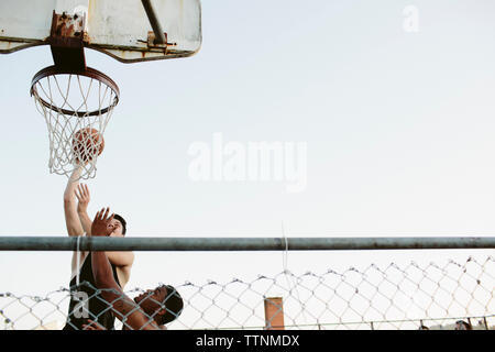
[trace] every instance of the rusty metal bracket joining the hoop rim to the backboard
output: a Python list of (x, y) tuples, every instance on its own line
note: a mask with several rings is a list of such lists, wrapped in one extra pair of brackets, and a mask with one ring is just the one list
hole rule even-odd
[(86, 69), (85, 21), (85, 15), (53, 11), (48, 43), (58, 68)]

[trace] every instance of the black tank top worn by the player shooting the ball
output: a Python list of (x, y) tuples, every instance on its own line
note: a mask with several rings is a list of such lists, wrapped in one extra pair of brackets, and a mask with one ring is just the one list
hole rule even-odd
[[(113, 278), (122, 287), (117, 276), (116, 265), (111, 264), (111, 267)], [(97, 321), (107, 330), (113, 330), (116, 317), (111, 311), (112, 305), (108, 304), (100, 295), (97, 295), (96, 288), (92, 276), (91, 252), (89, 252), (79, 272), (79, 286), (76, 285), (76, 277), (70, 280), (70, 302), (67, 322), (63, 330), (82, 330), (82, 324), (88, 324), (88, 319)], [(85, 297), (88, 297), (88, 300), (80, 302), (78, 298)], [(86, 305), (89, 312), (84, 314), (81, 305)]]

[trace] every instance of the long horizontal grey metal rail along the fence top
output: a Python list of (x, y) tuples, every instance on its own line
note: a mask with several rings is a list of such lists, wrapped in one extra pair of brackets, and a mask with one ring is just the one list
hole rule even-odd
[[(76, 237), (0, 237), (0, 251), (76, 251)], [(356, 251), (495, 249), (495, 238), (91, 238), (80, 251)]]

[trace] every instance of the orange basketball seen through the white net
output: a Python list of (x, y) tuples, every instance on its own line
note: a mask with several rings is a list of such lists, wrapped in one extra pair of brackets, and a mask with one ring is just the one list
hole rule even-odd
[(103, 136), (96, 129), (80, 129), (73, 136), (74, 158), (79, 164), (92, 161), (105, 147)]

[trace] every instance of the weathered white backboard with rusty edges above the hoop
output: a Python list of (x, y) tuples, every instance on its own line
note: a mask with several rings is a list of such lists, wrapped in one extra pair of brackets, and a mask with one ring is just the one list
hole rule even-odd
[(54, 12), (84, 16), (84, 47), (123, 63), (191, 56), (201, 46), (200, 0), (2, 0), (0, 54), (48, 45)]

